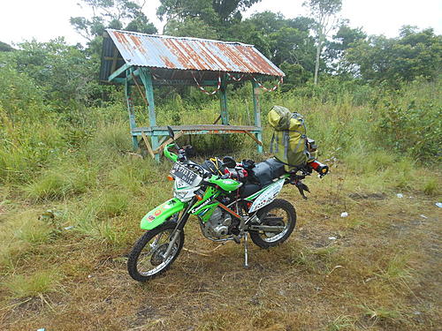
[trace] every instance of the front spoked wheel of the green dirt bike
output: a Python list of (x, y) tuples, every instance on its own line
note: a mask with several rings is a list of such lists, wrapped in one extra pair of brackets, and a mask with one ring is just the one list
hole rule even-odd
[(178, 257), (184, 244), (183, 231), (171, 247), (169, 256), (164, 258), (176, 225), (176, 222), (164, 222), (156, 229), (146, 232), (133, 246), (127, 260), (127, 271), (135, 281), (146, 282), (162, 274)]

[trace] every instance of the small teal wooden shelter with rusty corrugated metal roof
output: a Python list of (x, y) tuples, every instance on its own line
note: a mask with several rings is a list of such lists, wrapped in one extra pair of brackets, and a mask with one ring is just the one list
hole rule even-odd
[[(282, 81), (284, 72), (252, 45), (240, 42), (171, 37), (107, 29), (103, 38), (100, 80), (125, 85), (133, 148), (143, 139), (149, 154), (159, 160), (168, 141), (167, 128), (156, 125), (154, 86), (192, 85), (206, 94), (219, 95), (220, 115), (214, 124), (171, 125), (183, 134), (246, 133), (263, 152), (261, 111), (258, 100), (265, 79)], [(139, 81), (141, 80), (141, 82)], [(253, 85), (254, 125), (231, 125), (227, 107), (227, 85), (248, 80)], [(141, 86), (142, 85), (142, 86)], [(136, 125), (131, 89), (142, 91), (149, 111), (149, 127)], [(209, 93), (204, 87), (216, 87)], [(274, 87), (275, 89), (276, 87)], [(221, 120), (221, 124), (217, 122)], [(149, 139), (150, 137), (150, 144)]]

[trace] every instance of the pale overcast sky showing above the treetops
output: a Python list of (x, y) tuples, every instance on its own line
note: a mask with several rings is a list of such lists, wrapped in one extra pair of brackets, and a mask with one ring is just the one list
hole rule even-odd
[[(35, 38), (50, 41), (65, 36), (69, 43), (84, 42), (69, 24), (69, 18), (85, 16), (78, 0), (2, 0), (0, 4), (0, 41), (18, 43)], [(256, 11), (280, 11), (286, 18), (306, 15), (303, 0), (263, 0), (252, 6), (246, 17)], [(144, 12), (161, 32), (156, 19), (159, 0), (147, 0)], [(398, 35), (400, 26), (433, 27), (442, 33), (442, 0), (343, 0), (342, 16), (350, 26), (361, 27), (368, 34)]]

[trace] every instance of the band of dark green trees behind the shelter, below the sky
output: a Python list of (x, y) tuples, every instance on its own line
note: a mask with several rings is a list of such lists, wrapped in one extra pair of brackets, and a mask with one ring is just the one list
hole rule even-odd
[[(397, 88), (403, 82), (440, 75), (442, 36), (431, 28), (403, 26), (395, 38), (369, 36), (362, 27), (354, 28), (338, 17), (340, 0), (306, 1), (307, 17), (286, 18), (280, 12), (263, 11), (244, 18), (244, 11), (259, 1), (161, 0), (156, 13), (165, 21), (165, 34), (255, 45), (286, 72), (282, 92), (314, 82), (318, 76), (324, 81), (336, 78)], [(90, 15), (71, 18), (71, 23), (87, 39), (85, 46), (68, 45), (58, 38), (27, 41), (14, 49), (0, 41), (0, 68), (17, 71), (14, 77), (26, 75), (40, 88), (42, 100), (55, 109), (103, 102), (118, 88), (100, 86), (97, 81), (105, 28), (157, 33), (143, 12), (143, 3), (80, 0), (80, 5)]]

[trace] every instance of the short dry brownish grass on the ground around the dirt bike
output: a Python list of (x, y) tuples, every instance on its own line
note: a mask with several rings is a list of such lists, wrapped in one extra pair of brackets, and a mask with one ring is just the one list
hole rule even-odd
[[(156, 190), (168, 190), (165, 181), (156, 181)], [(242, 267), (242, 246), (229, 243), (209, 256), (183, 251), (166, 274), (146, 284), (127, 275), (126, 254), (141, 235), (139, 215), (156, 199), (137, 186), (131, 190), (141, 195), (116, 210), (102, 205), (100, 195), (72, 201), (67, 206), (73, 210), (100, 206), (91, 223), (97, 228), (63, 230), (50, 241), (19, 237), (27, 242), (26, 252), (11, 255), (0, 274), (0, 324), (8, 330), (440, 328), (435, 198), (413, 191), (402, 199), (388, 190), (364, 195), (356, 181), (341, 167), (321, 182), (309, 179), (313, 193), (307, 201), (293, 187), (285, 188), (282, 197), (296, 207), (297, 228), (270, 251), (251, 247), (248, 269)], [(354, 192), (361, 194), (349, 198)], [(347, 218), (340, 217), (343, 211)], [(36, 220), (41, 211), (29, 213), (27, 218), (33, 214)], [(0, 214), (0, 227), (17, 215), (14, 208)], [(74, 220), (65, 215), (59, 222)], [(124, 235), (114, 237), (118, 231)], [(202, 237), (196, 222), (186, 231), (185, 247), (192, 251), (209, 252), (217, 245)], [(37, 290), (26, 285), (18, 295), (19, 284), (32, 284), (29, 280), (45, 270), (57, 270), (53, 282)], [(38, 297), (42, 293), (48, 305)]]

